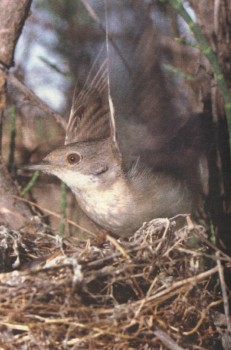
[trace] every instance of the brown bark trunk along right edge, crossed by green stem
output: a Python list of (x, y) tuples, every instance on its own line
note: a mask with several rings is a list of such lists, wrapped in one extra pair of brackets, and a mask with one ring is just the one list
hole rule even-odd
[[(228, 87), (231, 88), (231, 2), (191, 0), (201, 30), (215, 51)], [(207, 67), (210, 70), (210, 67)], [(210, 89), (203, 91), (204, 114), (209, 138), (208, 210), (221, 246), (231, 250), (231, 160), (224, 100), (213, 75)]]

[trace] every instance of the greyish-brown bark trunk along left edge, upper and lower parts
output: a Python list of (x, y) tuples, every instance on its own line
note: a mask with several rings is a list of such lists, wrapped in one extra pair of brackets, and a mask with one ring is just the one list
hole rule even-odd
[[(6, 103), (8, 69), (13, 66), (15, 46), (28, 16), (30, 5), (31, 0), (0, 1), (0, 133)], [(15, 194), (17, 194), (17, 188), (0, 154), (0, 223), (18, 229), (26, 223), (30, 217), (30, 211), (24, 204), (16, 202), (13, 197)]]

